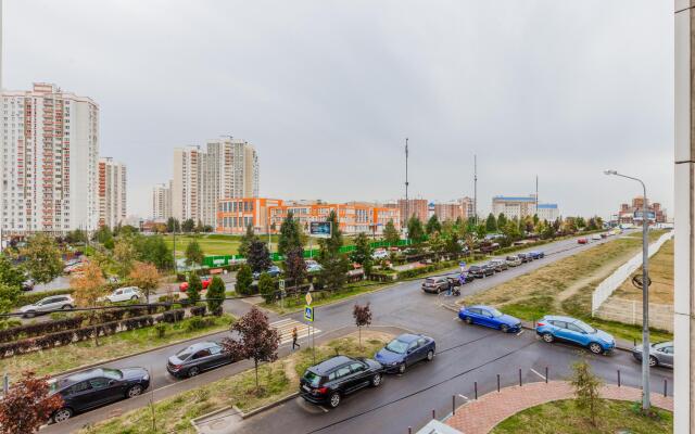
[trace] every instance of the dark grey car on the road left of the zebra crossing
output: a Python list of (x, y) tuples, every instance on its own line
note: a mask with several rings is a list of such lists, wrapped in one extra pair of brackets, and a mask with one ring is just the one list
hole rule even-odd
[(174, 376), (195, 376), (202, 371), (236, 361), (217, 342), (198, 342), (169, 357), (166, 370)]

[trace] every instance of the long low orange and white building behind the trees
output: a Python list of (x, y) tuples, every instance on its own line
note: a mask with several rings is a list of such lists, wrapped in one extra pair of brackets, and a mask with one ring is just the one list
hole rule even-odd
[(389, 221), (397, 230), (401, 228), (401, 214), (372, 203), (351, 202), (329, 204), (318, 201), (283, 202), (270, 199), (225, 199), (217, 206), (217, 232), (244, 233), (248, 225), (253, 225), (256, 233), (277, 233), (280, 225), (292, 213), (305, 231), (309, 222), (326, 221), (329, 214), (336, 212), (340, 230), (348, 235), (359, 232), (383, 233)]

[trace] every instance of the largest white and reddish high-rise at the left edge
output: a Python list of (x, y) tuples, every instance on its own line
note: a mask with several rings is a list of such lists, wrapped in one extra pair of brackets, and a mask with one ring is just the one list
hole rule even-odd
[(52, 84), (3, 91), (0, 227), (64, 233), (99, 224), (99, 106)]

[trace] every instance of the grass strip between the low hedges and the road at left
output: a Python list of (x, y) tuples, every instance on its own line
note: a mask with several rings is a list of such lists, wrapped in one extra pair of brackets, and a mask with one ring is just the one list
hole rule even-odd
[(214, 331), (227, 330), (232, 321), (229, 315), (208, 318), (214, 321), (213, 324), (200, 330), (188, 330), (189, 319), (166, 324), (164, 337), (159, 337), (153, 327), (147, 327), (100, 337), (98, 347), (93, 340), (89, 340), (1, 359), (0, 372), (9, 373), (10, 378), (17, 378), (24, 370), (31, 370), (39, 375), (53, 375), (80, 366), (148, 350)]

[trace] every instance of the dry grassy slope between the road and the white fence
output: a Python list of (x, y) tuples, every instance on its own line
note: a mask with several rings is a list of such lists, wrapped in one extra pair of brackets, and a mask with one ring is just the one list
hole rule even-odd
[[(649, 237), (654, 241), (664, 231), (653, 231)], [(592, 275), (601, 269), (605, 270), (607, 266), (618, 268), (640, 252), (642, 240), (637, 238), (617, 239), (465, 297), (462, 303), (494, 305), (505, 314), (528, 321), (549, 314), (570, 315), (584, 319), (617, 337), (628, 341), (640, 340), (642, 331), (637, 326), (592, 318), (591, 294), (603, 280), (603, 277), (592, 279)], [(571, 294), (559, 301), (559, 295), (568, 289)], [(653, 334), (658, 341), (672, 337), (670, 333), (658, 330), (653, 330)]]

